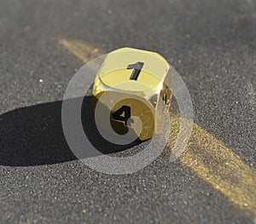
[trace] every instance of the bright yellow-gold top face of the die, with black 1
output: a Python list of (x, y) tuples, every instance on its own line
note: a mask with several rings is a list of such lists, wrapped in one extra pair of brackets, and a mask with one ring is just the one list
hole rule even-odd
[(124, 48), (107, 55), (97, 76), (108, 88), (153, 95), (161, 89), (169, 68), (157, 53)]

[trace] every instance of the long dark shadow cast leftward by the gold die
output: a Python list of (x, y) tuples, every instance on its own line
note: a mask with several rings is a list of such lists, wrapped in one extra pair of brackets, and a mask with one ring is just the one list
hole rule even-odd
[[(59, 164), (77, 159), (63, 134), (61, 102), (27, 106), (0, 115), (0, 165)], [(86, 123), (84, 132), (99, 151), (119, 152), (139, 144), (135, 141), (130, 145), (117, 146), (104, 140), (96, 130), (91, 107), (91, 97), (85, 96), (82, 106), (82, 120)], [(101, 146), (104, 146), (104, 151)]]

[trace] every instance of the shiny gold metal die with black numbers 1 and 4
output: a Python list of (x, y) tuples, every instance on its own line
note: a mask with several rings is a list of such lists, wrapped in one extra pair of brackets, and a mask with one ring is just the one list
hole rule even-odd
[[(171, 83), (171, 71), (171, 66), (156, 53), (129, 48), (115, 50), (106, 56), (96, 75), (93, 107), (103, 93), (107, 94), (109, 101), (114, 102), (108, 108), (113, 130), (125, 135), (131, 125), (127, 121), (136, 116), (143, 125), (138, 138), (147, 140), (160, 129), (163, 103), (170, 106), (171, 84), (165, 82)], [(104, 104), (108, 107), (108, 102)]]

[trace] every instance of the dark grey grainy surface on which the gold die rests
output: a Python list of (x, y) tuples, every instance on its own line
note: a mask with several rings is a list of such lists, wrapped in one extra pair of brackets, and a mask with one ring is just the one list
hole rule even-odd
[(131, 175), (79, 163), (62, 133), (61, 100), (83, 62), (57, 40), (160, 52), (187, 84), (195, 123), (255, 169), (255, 7), (254, 0), (1, 1), (0, 222), (253, 223), (256, 215), (165, 153)]

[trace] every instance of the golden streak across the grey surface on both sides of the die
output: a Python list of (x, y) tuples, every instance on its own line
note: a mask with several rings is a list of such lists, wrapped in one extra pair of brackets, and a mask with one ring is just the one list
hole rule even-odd
[[(100, 49), (80, 41), (60, 39), (59, 43), (84, 63), (98, 55)], [(172, 118), (169, 146), (174, 145), (179, 130), (179, 119)], [(178, 158), (201, 179), (222, 192), (224, 196), (250, 215), (256, 213), (256, 171), (245, 164), (235, 152), (194, 123), (186, 150)]]

